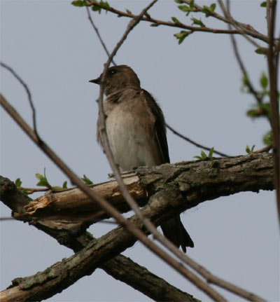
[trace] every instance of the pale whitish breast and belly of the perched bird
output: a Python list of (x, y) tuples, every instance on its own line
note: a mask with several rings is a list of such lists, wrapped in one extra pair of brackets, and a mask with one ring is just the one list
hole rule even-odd
[[(106, 118), (111, 150), (116, 163), (123, 171), (144, 165), (160, 164), (153, 121), (147, 116), (150, 113), (143, 104), (131, 101), (130, 108), (125, 104), (118, 104)], [(137, 107), (140, 105), (140, 108), (133, 110), (135, 109), (133, 103)]]

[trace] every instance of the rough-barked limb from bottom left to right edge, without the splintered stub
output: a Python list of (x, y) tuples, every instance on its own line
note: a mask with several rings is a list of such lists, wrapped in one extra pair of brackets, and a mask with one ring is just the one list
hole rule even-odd
[[(141, 167), (136, 173), (140, 186), (151, 196), (149, 203), (143, 208), (144, 215), (155, 225), (205, 200), (241, 191), (258, 192), (274, 188), (271, 154)], [(11, 203), (14, 210), (18, 210), (18, 203), (11, 200), (8, 203)], [(137, 217), (132, 217), (131, 221), (144, 230)], [(16, 297), (20, 290), (28, 296), (29, 301), (48, 298), (69, 287), (80, 277), (90, 275), (135, 241), (133, 235), (118, 226), (102, 238), (92, 240), (87, 247), (69, 259), (55, 263), (34, 276), (15, 280), (8, 291), (15, 291)]]

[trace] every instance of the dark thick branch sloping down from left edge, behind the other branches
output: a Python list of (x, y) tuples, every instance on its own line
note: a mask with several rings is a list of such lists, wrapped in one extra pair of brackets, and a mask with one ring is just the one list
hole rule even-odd
[[(24, 207), (31, 202), (31, 199), (20, 192), (15, 184), (9, 179), (0, 177), (1, 200), (5, 204), (10, 204), (11, 207), (16, 208), (18, 212), (25, 212)], [(16, 205), (16, 207), (15, 207)], [(94, 238), (90, 233), (83, 233), (82, 235), (73, 235), (65, 230), (57, 230), (53, 228), (52, 224), (41, 224), (34, 222), (34, 226), (41, 231), (44, 231), (52, 238), (55, 238), (60, 244), (73, 249), (78, 252), (83, 247), (86, 247)], [(109, 275), (117, 280), (125, 282), (134, 289), (141, 291), (146, 296), (153, 298), (155, 301), (188, 301), (197, 302), (190, 294), (187, 294), (176, 287), (173, 287), (162, 278), (149, 272), (143, 266), (139, 266), (131, 259), (118, 255), (115, 258), (103, 263), (99, 268), (102, 268)], [(129, 273), (128, 273), (129, 272)], [(161, 290), (159, 290), (159, 288)], [(1, 301), (25, 301), (29, 293), (25, 293), (19, 286), (7, 289), (0, 294)]]

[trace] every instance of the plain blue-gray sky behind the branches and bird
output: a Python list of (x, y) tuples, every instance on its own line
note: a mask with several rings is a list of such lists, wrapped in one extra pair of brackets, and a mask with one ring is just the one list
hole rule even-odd
[[(209, 1), (196, 1), (207, 5)], [(232, 14), (260, 32), (266, 32), (261, 1), (233, 1)], [(139, 13), (147, 1), (109, 1), (119, 9)], [(174, 1), (159, 1), (149, 13), (170, 20), (176, 16), (190, 24)], [(197, 18), (196, 15), (194, 15)], [(112, 50), (127, 22), (111, 13), (94, 13), (94, 22)], [(218, 22), (202, 18), (212, 27)], [(225, 27), (225, 26), (223, 26)], [(178, 45), (179, 29), (150, 27), (141, 23), (127, 38), (114, 60), (137, 72), (141, 85), (160, 102), (167, 123), (201, 144), (232, 156), (245, 153), (246, 145), (262, 145), (267, 121), (251, 121), (246, 110), (254, 102), (240, 92), (241, 74), (230, 46), (221, 34), (195, 33)], [(278, 25), (279, 32), (279, 25)], [(241, 55), (258, 87), (265, 58), (237, 37)], [(110, 171), (95, 140), (99, 88), (88, 81), (102, 72), (106, 54), (85, 8), (70, 1), (1, 1), (1, 60), (18, 72), (31, 90), (38, 117), (38, 131), (80, 177), (106, 181)], [(30, 123), (31, 110), (22, 86), (1, 69), (1, 92)], [(172, 163), (193, 160), (200, 149), (167, 133)], [(1, 110), (1, 174), (20, 177), (23, 186), (35, 186), (37, 172), (52, 185), (62, 185), (64, 174)], [(69, 184), (70, 185), (70, 184)], [(37, 197), (38, 195), (34, 196)], [(181, 214), (195, 242), (188, 255), (207, 269), (269, 301), (279, 300), (279, 228), (274, 193), (239, 193), (211, 200)], [(10, 211), (1, 205), (1, 216)], [(72, 254), (48, 235), (19, 221), (1, 222), (1, 289), (15, 277), (44, 270)], [(90, 227), (98, 237), (109, 226)], [(188, 280), (174, 272), (137, 243), (124, 253), (176, 287), (209, 301)], [(230, 301), (242, 301), (221, 290)], [(149, 301), (138, 291), (113, 280), (102, 270), (84, 277), (48, 301)]]

